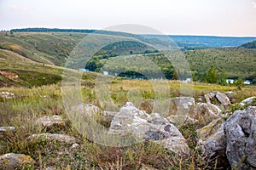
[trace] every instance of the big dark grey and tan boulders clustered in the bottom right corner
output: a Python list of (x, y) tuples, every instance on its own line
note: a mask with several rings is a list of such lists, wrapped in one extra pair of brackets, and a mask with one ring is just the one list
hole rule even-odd
[(217, 119), (198, 130), (198, 145), (209, 161), (228, 160), (235, 169), (256, 169), (256, 107), (235, 111), (224, 122)]

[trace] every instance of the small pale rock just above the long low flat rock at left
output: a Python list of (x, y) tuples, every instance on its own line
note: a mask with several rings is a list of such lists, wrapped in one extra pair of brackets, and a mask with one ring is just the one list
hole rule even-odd
[(53, 126), (65, 126), (65, 122), (62, 120), (61, 116), (43, 116), (38, 118), (36, 121), (38, 124), (42, 124), (44, 127), (53, 127)]

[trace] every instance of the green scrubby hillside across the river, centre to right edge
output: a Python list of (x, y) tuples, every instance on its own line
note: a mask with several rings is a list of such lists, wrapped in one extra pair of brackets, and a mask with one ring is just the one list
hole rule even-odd
[[(189, 69), (198, 78), (207, 75), (210, 67), (213, 66), (218, 74), (225, 73), (229, 78), (241, 77), (242, 79), (253, 80), (256, 77), (256, 49), (248, 48), (207, 48), (183, 51), (185, 60), (189, 63)], [(150, 72), (151, 75), (158, 74), (149, 62), (148, 59), (154, 64), (158, 65), (161, 71), (165, 74), (166, 78), (172, 79), (175, 74), (172, 62), (177, 63), (177, 54), (172, 54), (172, 59), (168, 60), (162, 53), (154, 54), (138, 54), (129, 56), (119, 56), (116, 59), (101, 59), (98, 65), (104, 66), (104, 71), (110, 72), (127, 72), (135, 70), (134, 66), (137, 65), (137, 72)], [(125, 59), (125, 60), (124, 60)], [(133, 65), (127, 65), (125, 62), (134, 62)], [(171, 61), (171, 62), (170, 62)], [(184, 72), (177, 66), (177, 72)]]

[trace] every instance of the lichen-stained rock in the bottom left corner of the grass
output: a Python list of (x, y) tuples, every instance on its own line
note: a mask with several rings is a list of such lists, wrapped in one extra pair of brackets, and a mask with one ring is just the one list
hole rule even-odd
[(9, 153), (0, 156), (0, 169), (20, 169), (24, 166), (32, 166), (35, 161), (31, 156)]

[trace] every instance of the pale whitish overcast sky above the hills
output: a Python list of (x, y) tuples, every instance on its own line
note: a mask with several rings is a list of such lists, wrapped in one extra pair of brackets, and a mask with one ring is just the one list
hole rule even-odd
[(256, 0), (0, 0), (0, 30), (120, 24), (168, 35), (256, 37)]

